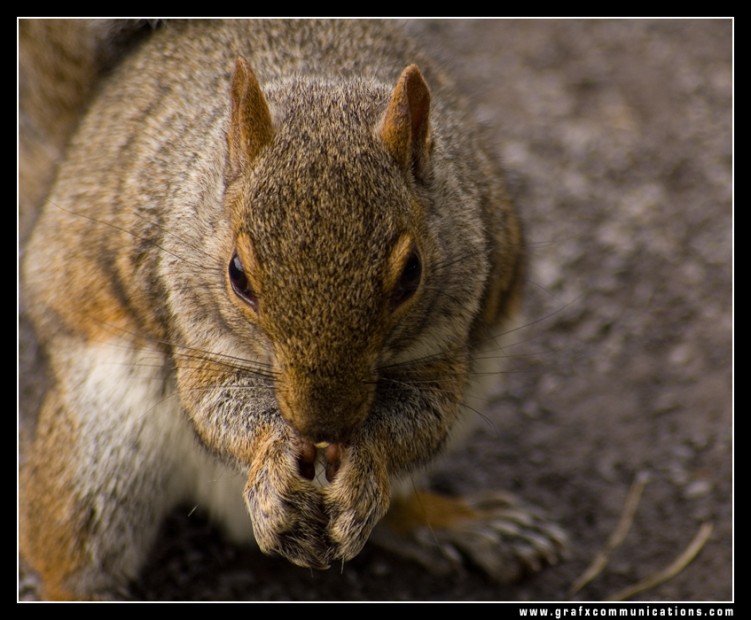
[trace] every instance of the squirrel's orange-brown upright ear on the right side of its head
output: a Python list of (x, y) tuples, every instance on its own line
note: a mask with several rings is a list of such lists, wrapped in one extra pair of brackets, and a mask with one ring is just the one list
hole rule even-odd
[(402, 170), (425, 180), (430, 154), (430, 90), (417, 65), (402, 71), (379, 135)]

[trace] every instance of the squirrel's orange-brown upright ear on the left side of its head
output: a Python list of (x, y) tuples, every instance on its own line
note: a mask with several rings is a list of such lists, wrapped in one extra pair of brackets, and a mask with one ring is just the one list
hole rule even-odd
[(230, 176), (239, 174), (271, 142), (271, 113), (258, 79), (248, 62), (238, 57), (230, 86), (227, 131)]

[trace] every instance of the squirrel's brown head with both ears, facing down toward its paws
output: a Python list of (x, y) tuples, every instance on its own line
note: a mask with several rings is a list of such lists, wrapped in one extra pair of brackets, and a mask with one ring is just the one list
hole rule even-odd
[(414, 65), (391, 92), (276, 88), (270, 106), (237, 60), (227, 293), (268, 343), (285, 420), (308, 441), (346, 442), (368, 416), (379, 364), (428, 311), (430, 92)]

